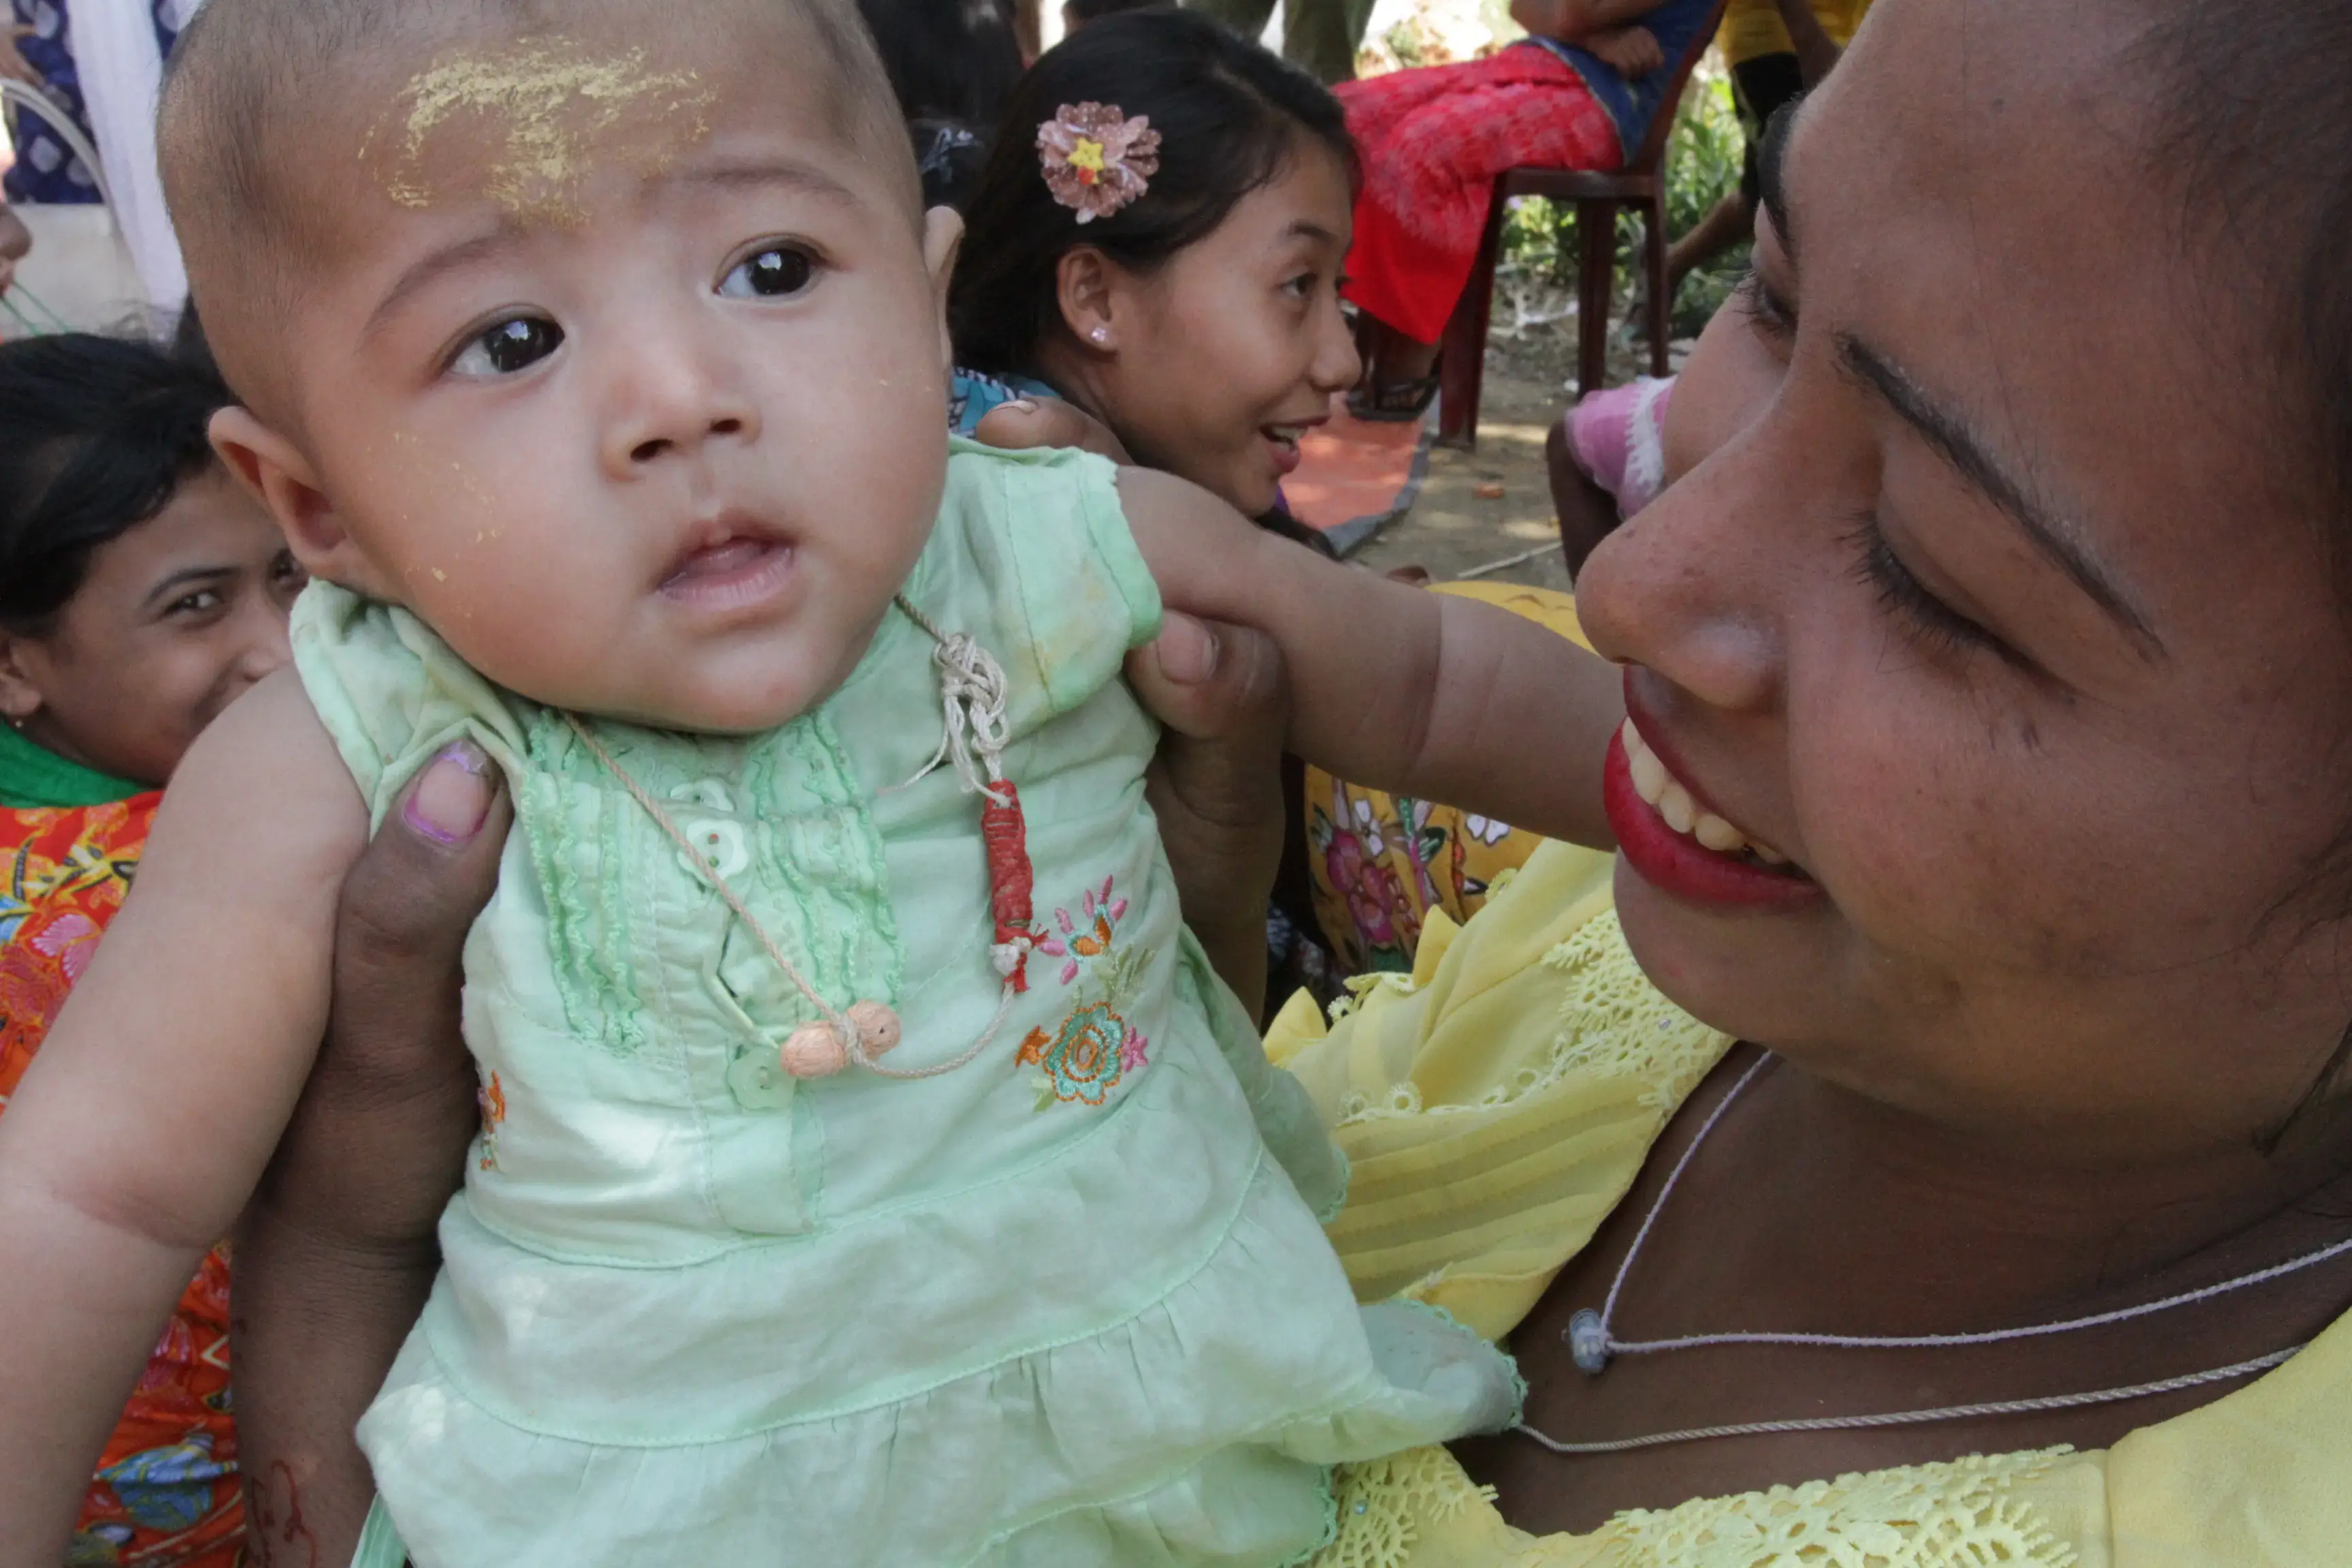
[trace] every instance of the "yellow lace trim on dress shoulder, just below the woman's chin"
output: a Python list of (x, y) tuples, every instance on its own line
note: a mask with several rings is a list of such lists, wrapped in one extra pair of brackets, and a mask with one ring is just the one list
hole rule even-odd
[[(1616, 910), (1595, 914), (1576, 936), (1543, 954), (1543, 966), (1566, 978), (1559, 999), (1559, 1034), (1543, 1053), (1496, 1084), (1477, 1100), (1458, 1105), (1421, 1105), (1421, 1086), (1390, 1084), (1385, 1093), (1355, 1091), (1341, 1100), (1338, 1126), (1392, 1117), (1437, 1112), (1496, 1110), (1548, 1088), (1569, 1074), (1642, 1079), (1637, 1100), (1656, 1112), (1672, 1112), (1698, 1086), (1722, 1053), (1722, 1034), (1668, 1001), (1618, 929)], [(1357, 999), (1374, 990), (1414, 992), (1406, 976), (1357, 976), (1348, 980), (1350, 997), (1331, 1004), (1338, 1020), (1355, 1011)]]

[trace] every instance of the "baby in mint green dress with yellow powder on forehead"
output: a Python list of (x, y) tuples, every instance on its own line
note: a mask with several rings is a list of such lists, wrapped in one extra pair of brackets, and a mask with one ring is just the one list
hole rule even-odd
[(259, 1178), (343, 872), (459, 738), (517, 809), (485, 1126), (362, 1561), (1298, 1559), (1329, 1465), (1517, 1385), (1350, 1298), (1343, 1164), (1178, 919), (1120, 663), (1162, 592), (1261, 623), (1301, 750), (1588, 835), (1611, 677), (1181, 482), (950, 444), (957, 228), (854, 9), (640, 19), (212, 0), (181, 42), (214, 442), (318, 585), (0, 1126), (0, 1561)]

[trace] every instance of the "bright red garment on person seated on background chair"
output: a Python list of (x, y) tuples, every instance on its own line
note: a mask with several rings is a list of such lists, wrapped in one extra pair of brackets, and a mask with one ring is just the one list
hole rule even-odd
[(1331, 92), (1364, 158), (1345, 294), (1416, 343), (1435, 343), (1454, 315), (1496, 174), (1606, 172), (1625, 160), (1599, 99), (1550, 49), (1510, 47)]

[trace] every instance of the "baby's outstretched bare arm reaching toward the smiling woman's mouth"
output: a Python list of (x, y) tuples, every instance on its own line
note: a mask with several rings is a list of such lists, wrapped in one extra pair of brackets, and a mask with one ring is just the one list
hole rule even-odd
[(1204, 489), (1120, 470), (1169, 609), (1263, 628), (1289, 668), (1289, 745), (1341, 778), (1609, 849), (1616, 668), (1475, 599), (1338, 567)]

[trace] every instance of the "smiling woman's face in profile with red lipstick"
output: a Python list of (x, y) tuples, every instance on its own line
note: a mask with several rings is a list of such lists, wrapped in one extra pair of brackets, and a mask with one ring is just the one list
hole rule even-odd
[(2352, 818), (2326, 503), (2234, 313), (2265, 289), (2152, 174), (2133, 9), (1872, 14), (1684, 371), (1689, 473), (1578, 578), (1649, 750), (1809, 875), (1661, 851), (1621, 790), (1642, 966), (2084, 1161), (2241, 1150), (2352, 1018), (2298, 903)]

